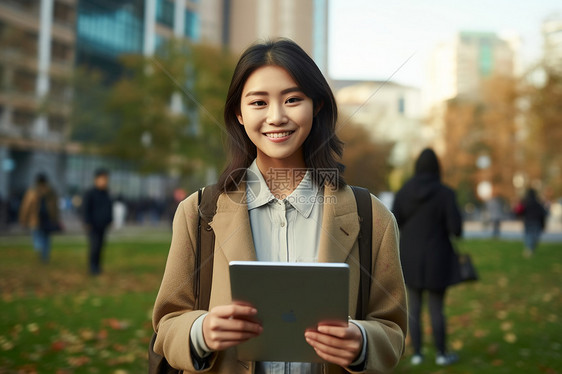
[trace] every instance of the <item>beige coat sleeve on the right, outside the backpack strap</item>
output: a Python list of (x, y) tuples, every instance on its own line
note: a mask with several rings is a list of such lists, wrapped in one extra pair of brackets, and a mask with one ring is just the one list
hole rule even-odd
[(366, 373), (392, 371), (404, 353), (408, 309), (394, 216), (373, 198), (373, 262), (369, 313), (357, 321), (367, 333)]

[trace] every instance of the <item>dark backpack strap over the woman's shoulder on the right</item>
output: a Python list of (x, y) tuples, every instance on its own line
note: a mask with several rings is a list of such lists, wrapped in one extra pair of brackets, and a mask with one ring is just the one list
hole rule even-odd
[(371, 293), (371, 265), (372, 265), (372, 227), (373, 214), (371, 207), (371, 193), (366, 188), (351, 186), (357, 203), (359, 215), (359, 297), (355, 318), (363, 320), (367, 317), (369, 308), (369, 294)]

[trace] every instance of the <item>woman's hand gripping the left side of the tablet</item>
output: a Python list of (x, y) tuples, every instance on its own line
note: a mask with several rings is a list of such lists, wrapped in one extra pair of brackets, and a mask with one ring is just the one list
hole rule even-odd
[(257, 310), (249, 305), (232, 303), (212, 308), (203, 320), (203, 338), (207, 347), (222, 351), (262, 332), (256, 321)]

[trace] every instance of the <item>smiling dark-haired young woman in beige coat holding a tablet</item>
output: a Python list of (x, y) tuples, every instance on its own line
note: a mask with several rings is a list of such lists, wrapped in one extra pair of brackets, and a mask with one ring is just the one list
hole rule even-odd
[[(364, 321), (320, 324), (303, 332), (325, 364), (241, 362), (236, 346), (262, 327), (251, 306), (233, 303), (233, 260), (345, 262), (358, 295), (359, 220), (341, 176), (333, 94), (313, 60), (294, 42), (255, 44), (232, 77), (224, 119), (230, 163), (218, 185), (209, 311), (194, 310), (197, 194), (174, 218), (170, 254), (154, 307), (154, 350), (184, 372), (385, 372), (398, 363), (407, 325), (405, 288), (392, 214), (372, 197), (372, 278)], [(355, 315), (355, 303), (349, 305)]]

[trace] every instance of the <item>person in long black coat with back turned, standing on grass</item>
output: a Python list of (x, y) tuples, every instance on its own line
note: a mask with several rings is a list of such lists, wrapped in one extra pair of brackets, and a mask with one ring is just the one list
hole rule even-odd
[(420, 322), (422, 295), (429, 294), (429, 311), (437, 348), (436, 363), (458, 360), (446, 351), (445, 291), (455, 283), (455, 252), (450, 236), (462, 235), (462, 218), (455, 192), (441, 183), (435, 152), (424, 149), (416, 161), (415, 175), (398, 191), (392, 209), (400, 228), (400, 259), (408, 290), (412, 364), (423, 361)]

